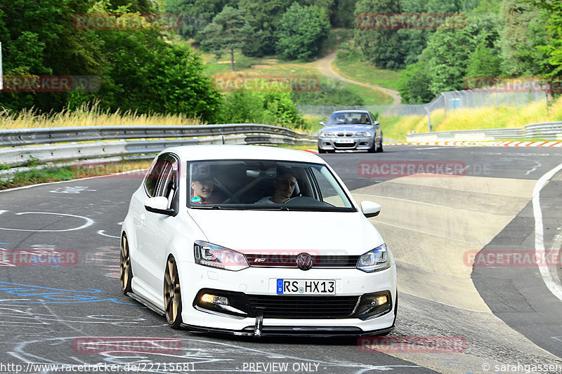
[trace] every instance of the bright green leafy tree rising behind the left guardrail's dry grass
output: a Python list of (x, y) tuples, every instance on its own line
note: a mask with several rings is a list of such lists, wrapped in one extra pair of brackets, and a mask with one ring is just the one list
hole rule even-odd
[(103, 107), (214, 118), (221, 96), (192, 49), (170, 45), (155, 31), (100, 36), (110, 53), (109, 74), (98, 94)]

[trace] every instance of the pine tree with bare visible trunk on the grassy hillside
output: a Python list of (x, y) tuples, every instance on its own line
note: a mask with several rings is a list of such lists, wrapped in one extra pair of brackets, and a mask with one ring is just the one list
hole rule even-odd
[(242, 48), (250, 39), (251, 27), (244, 20), (244, 12), (225, 6), (201, 32), (202, 46), (218, 57), (230, 53), (230, 69), (234, 72), (234, 50)]

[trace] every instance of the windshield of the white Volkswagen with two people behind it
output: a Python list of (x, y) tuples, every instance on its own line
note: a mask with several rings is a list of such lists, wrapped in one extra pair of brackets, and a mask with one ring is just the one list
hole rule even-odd
[(188, 171), (189, 208), (355, 211), (334, 175), (318, 163), (197, 161)]

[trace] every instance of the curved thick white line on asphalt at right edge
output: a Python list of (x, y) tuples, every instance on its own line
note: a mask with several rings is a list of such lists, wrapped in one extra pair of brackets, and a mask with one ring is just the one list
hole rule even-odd
[[(548, 173), (542, 175), (542, 177), (537, 181), (535, 189), (532, 191), (532, 213), (535, 215), (535, 255), (537, 258), (543, 258), (545, 254), (544, 227), (542, 225), (542, 211), (540, 208), (540, 191), (542, 187), (547, 185), (554, 174), (561, 170), (562, 163)], [(547, 266), (539, 266), (538, 268), (544, 284), (547, 285), (547, 288), (554, 296), (556, 296), (556, 298), (562, 301), (562, 285), (554, 280)]]

